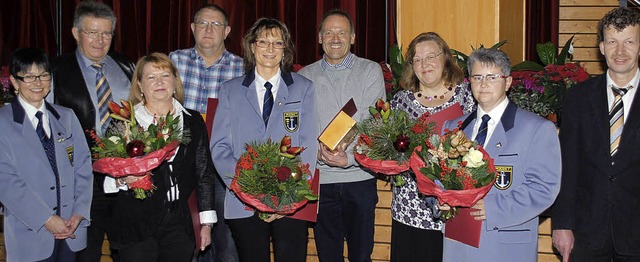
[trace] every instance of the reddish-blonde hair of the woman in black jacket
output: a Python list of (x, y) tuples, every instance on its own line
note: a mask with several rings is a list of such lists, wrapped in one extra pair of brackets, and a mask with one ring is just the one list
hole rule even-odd
[(178, 100), (181, 104), (184, 103), (184, 87), (182, 86), (182, 80), (180, 80), (180, 74), (178, 74), (178, 69), (171, 59), (163, 54), (163, 53), (151, 53), (147, 56), (143, 56), (138, 60), (136, 64), (136, 70), (133, 72), (133, 77), (131, 79), (131, 90), (129, 91), (129, 100), (131, 100), (132, 104), (137, 104), (139, 102), (146, 102), (144, 97), (142, 96), (142, 89), (140, 87), (140, 81), (142, 80), (142, 69), (147, 64), (152, 64), (156, 68), (160, 69), (169, 69), (171, 74), (176, 78), (176, 85), (174, 86), (175, 92), (173, 93), (173, 98)]

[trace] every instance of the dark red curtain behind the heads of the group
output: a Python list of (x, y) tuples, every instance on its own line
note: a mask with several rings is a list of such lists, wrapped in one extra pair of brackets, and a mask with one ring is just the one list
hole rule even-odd
[[(79, 0), (62, 3), (62, 53), (75, 50), (71, 35), (73, 11)], [(386, 60), (385, 43), (395, 39), (395, 2), (369, 0), (103, 0), (118, 17), (112, 50), (135, 61), (150, 52), (169, 53), (194, 45), (190, 23), (197, 9), (206, 3), (221, 6), (229, 16), (231, 33), (225, 45), (242, 55), (242, 36), (258, 18), (273, 17), (291, 30), (296, 50), (296, 63), (306, 65), (322, 56), (318, 44), (318, 26), (322, 15), (334, 8), (351, 15), (356, 30), (352, 51), (374, 61)], [(388, 3), (387, 3), (388, 2)], [(0, 61), (8, 62), (11, 51), (34, 46), (56, 54), (54, 19), (56, 1), (20, 0), (0, 3)], [(388, 5), (388, 6), (387, 6)], [(387, 8), (388, 7), (388, 8)], [(385, 34), (385, 15), (389, 29)], [(16, 15), (20, 14), (20, 15)]]

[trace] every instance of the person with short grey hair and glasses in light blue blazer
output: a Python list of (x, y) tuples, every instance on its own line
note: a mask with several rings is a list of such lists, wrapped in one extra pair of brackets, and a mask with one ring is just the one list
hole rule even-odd
[(537, 261), (538, 215), (560, 190), (560, 143), (553, 123), (507, 99), (511, 62), (497, 49), (469, 56), (471, 92), (478, 108), (447, 121), (460, 127), (495, 160), (500, 176), (471, 216), (482, 220), (480, 247), (445, 238), (444, 261)]

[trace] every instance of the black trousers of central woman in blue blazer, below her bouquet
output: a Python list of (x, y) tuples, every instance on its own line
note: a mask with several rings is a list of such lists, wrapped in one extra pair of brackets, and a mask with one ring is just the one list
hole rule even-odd
[(248, 218), (227, 219), (240, 262), (270, 262), (269, 244), (273, 240), (275, 262), (307, 259), (308, 222), (283, 217), (271, 223), (256, 214)]

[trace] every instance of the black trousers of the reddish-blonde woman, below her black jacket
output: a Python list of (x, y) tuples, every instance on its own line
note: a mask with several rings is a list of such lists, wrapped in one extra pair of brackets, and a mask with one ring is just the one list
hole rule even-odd
[(126, 262), (190, 262), (195, 241), (178, 214), (169, 213), (149, 239), (118, 249), (121, 261)]

